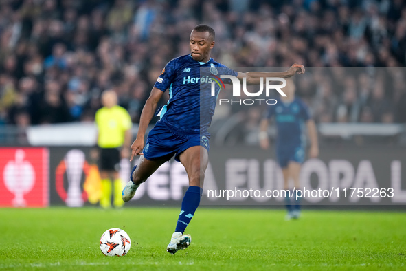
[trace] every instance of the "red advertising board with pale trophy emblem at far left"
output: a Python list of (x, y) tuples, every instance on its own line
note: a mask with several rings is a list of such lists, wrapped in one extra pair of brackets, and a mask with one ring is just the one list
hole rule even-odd
[(0, 148), (0, 206), (49, 206), (49, 151)]

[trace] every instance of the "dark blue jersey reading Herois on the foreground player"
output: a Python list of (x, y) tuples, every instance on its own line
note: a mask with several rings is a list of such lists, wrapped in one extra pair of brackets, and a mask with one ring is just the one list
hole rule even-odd
[(237, 72), (212, 58), (207, 63), (199, 63), (188, 54), (169, 61), (155, 83), (161, 91), (169, 89), (168, 104), (160, 114), (161, 122), (178, 133), (206, 133), (220, 91), (215, 84), (215, 95), (212, 94), (212, 79), (221, 74), (237, 76)]

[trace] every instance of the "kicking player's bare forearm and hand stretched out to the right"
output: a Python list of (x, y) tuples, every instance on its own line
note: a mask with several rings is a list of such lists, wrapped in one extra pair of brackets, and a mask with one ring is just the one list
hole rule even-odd
[(258, 85), (261, 77), (289, 78), (295, 74), (304, 74), (304, 66), (295, 63), (285, 72), (238, 72), (237, 78), (242, 81), (245, 77), (247, 85)]

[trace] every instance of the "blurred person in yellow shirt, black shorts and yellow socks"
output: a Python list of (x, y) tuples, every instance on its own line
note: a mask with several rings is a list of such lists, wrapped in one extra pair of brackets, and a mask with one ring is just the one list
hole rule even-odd
[[(117, 94), (113, 90), (102, 93), (102, 105), (103, 107), (95, 114), (102, 182), (100, 206), (111, 207), (111, 195), (114, 191), (113, 204), (115, 207), (121, 207), (124, 202), (121, 196), (120, 160), (130, 155), (128, 148), (131, 144), (131, 117), (126, 109), (117, 105)], [(113, 180), (114, 189), (111, 180)]]

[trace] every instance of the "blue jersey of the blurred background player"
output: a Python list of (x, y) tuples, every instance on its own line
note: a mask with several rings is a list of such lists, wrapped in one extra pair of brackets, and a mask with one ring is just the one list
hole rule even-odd
[(284, 103), (278, 100), (276, 105), (270, 105), (266, 118), (275, 116), (278, 136), (277, 149), (300, 147), (304, 145), (304, 122), (311, 118), (308, 107), (295, 98), (292, 102)]

